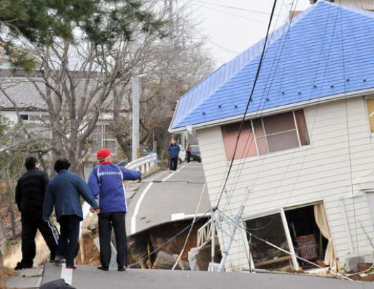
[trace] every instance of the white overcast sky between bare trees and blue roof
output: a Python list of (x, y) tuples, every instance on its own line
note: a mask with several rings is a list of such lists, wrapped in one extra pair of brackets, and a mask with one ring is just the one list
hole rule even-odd
[[(265, 37), (273, 0), (178, 0), (180, 4), (201, 22), (195, 32), (206, 37), (206, 49), (220, 66)], [(287, 21), (290, 9), (309, 6), (309, 0), (278, 0), (270, 31)]]

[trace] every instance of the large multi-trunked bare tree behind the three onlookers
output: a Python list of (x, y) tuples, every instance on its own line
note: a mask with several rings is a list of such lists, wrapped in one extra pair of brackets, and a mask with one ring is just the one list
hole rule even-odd
[[(92, 40), (79, 25), (73, 31), (77, 35), (74, 40), (56, 36), (42, 45), (25, 41), (25, 47), (32, 51), (41, 72), (39, 77), (28, 76), (27, 81), (46, 105), (49, 114), (46, 124), (51, 131), (46, 146), (35, 150), (51, 152), (54, 159), (68, 158), (74, 172), (82, 173), (89, 153), (89, 136), (100, 115), (113, 112), (117, 101), (114, 98), (123, 97), (116, 91), (129, 82), (132, 69), (143, 57), (143, 47), (163, 35), (163, 14), (151, 13), (156, 9), (154, 3), (147, 2), (142, 14), (139, 7), (137, 11), (130, 9), (132, 4), (129, 3), (108, 6), (103, 2), (101, 9), (108, 10), (104, 15), (110, 17), (104, 23), (116, 30), (113, 37), (106, 28), (110, 34), (106, 41)], [(126, 23), (123, 30), (113, 25), (116, 23), (113, 18), (119, 17), (111, 13), (113, 11), (127, 13), (130, 23)], [(128, 31), (128, 26), (134, 33)], [(142, 39), (139, 51), (132, 49), (132, 34)], [(128, 112), (125, 103), (118, 110)], [(31, 146), (29, 149), (32, 151)]]

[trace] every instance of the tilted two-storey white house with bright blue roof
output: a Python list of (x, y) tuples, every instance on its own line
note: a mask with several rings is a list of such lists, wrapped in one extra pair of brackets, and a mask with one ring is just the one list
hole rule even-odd
[[(170, 132), (196, 131), (211, 205), (232, 160), (264, 40), (187, 92)], [(373, 262), (374, 13), (318, 1), (269, 36), (220, 210), (244, 200), (227, 269)], [(226, 237), (220, 238), (221, 249)]]

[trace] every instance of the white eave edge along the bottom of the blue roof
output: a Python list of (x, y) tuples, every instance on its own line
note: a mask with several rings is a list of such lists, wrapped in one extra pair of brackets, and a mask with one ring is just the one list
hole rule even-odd
[[(289, 105), (278, 106), (276, 108), (269, 108), (267, 110), (258, 110), (254, 113), (247, 113), (245, 119), (250, 120), (250, 119), (256, 118), (256, 117), (265, 117), (267, 115), (273, 115), (275, 113), (284, 113), (288, 110), (305, 108), (306, 106), (310, 106), (310, 105), (316, 105), (316, 104), (320, 104), (320, 103), (328, 103), (330, 101), (337, 101), (339, 99), (344, 99), (344, 98), (354, 98), (354, 97), (357, 97), (357, 96), (365, 96), (366, 94), (373, 94), (373, 93), (374, 93), (374, 88), (361, 89), (361, 90), (358, 90), (358, 91), (351, 91), (349, 93), (343, 93), (343, 94), (334, 94), (332, 96), (328, 96), (328, 97), (324, 97), (324, 98), (316, 98), (316, 99), (309, 100), (309, 101), (301, 101), (301, 102), (292, 103), (292, 104), (289, 104)], [(175, 113), (174, 113), (174, 115), (175, 115)], [(237, 122), (237, 121), (242, 120), (242, 118), (243, 118), (243, 114), (242, 115), (235, 115), (233, 117), (225, 117), (225, 118), (220, 119), (220, 120), (212, 120), (211, 122), (201, 122), (199, 124), (192, 124), (191, 127), (194, 130), (206, 129), (208, 127), (216, 127), (217, 125)], [(173, 120), (174, 120), (174, 117), (173, 117)], [(169, 127), (169, 132), (170, 133), (175, 133), (175, 132), (180, 132), (180, 131), (187, 130), (186, 126), (176, 127), (176, 128), (173, 129), (171, 127), (172, 124), (173, 124), (173, 121), (170, 123), (170, 127)]]

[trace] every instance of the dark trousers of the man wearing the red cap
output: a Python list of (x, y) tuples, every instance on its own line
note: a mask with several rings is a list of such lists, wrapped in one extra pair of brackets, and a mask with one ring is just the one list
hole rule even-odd
[(111, 262), (111, 233), (112, 227), (116, 236), (117, 264), (123, 267), (127, 259), (127, 236), (125, 212), (110, 212), (99, 214), (100, 262), (108, 267)]

